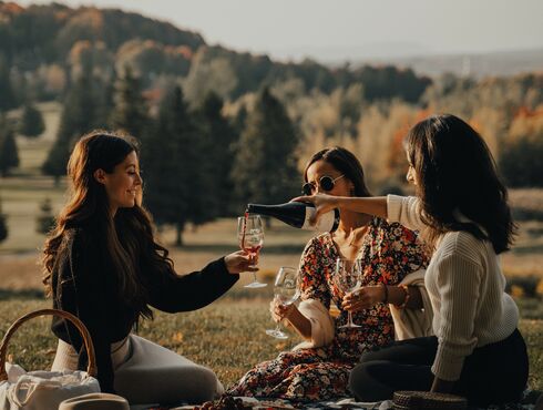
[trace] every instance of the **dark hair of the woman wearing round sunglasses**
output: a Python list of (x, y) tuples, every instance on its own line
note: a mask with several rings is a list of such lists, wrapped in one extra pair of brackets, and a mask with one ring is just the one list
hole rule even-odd
[(355, 185), (355, 192), (352, 196), (371, 196), (368, 187), (366, 186), (366, 178), (363, 176), (363, 168), (360, 161), (350, 151), (341, 146), (332, 146), (325, 148), (311, 156), (307, 162), (304, 170), (304, 180), (307, 182), (307, 170), (317, 161), (326, 161), (334, 166), (338, 172), (345, 175), (347, 180)]

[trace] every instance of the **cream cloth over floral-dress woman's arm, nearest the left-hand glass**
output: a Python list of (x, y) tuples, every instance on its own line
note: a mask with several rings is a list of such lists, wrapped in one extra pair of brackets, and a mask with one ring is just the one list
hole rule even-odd
[(301, 300), (298, 310), (311, 322), (311, 340), (303, 341), (294, 350), (322, 347), (334, 340), (334, 318), (320, 300)]

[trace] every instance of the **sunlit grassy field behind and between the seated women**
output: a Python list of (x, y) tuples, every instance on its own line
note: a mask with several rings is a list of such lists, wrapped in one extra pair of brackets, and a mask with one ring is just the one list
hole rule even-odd
[[(9, 238), (0, 244), (0, 335), (17, 317), (50, 306), (41, 296), (38, 260), (44, 236), (35, 233), (35, 216), (45, 197), (51, 198), (54, 212), (61, 208), (65, 201), (65, 182), (61, 181), (60, 186), (55, 187), (51, 178), (39, 174), (59, 123), (59, 107), (55, 104), (44, 104), (41, 109), (45, 111), (45, 134), (35, 141), (18, 137), (21, 166), (13, 176), (0, 178), (2, 209), (8, 216), (9, 226)], [(512, 199), (523, 206), (527, 204), (543, 208), (541, 189), (512, 192)], [(240, 213), (243, 208), (244, 204), (240, 204)], [(279, 266), (297, 266), (300, 252), (310, 236), (311, 233), (274, 223), (266, 232), (259, 263), (260, 278), (270, 283)], [(158, 238), (172, 250), (176, 270), (183, 274), (236, 250), (236, 222), (234, 218), (219, 219), (197, 229), (188, 227), (183, 248), (170, 246), (174, 242), (172, 229), (165, 228)], [(513, 293), (518, 296), (523, 318), (521, 330), (530, 348), (530, 383), (532, 388), (543, 390), (541, 221), (521, 223), (518, 243), (511, 253), (503, 256), (502, 265), (505, 274), (515, 283)], [(268, 314), (272, 289), (270, 286), (265, 290), (244, 289), (243, 284), (249, 280), (249, 275), (244, 274), (226, 297), (202, 310), (180, 315), (157, 312), (154, 321), (143, 324), (141, 335), (211, 367), (225, 385), (233, 383), (256, 362), (270, 359), (299, 341), (296, 335), (287, 342), (265, 335), (264, 330), (273, 326)], [(524, 284), (535, 284), (535, 297), (522, 297), (529, 293)], [(39, 369), (52, 361), (55, 341), (48, 330), (48, 324), (47, 319), (35, 319), (18, 331), (10, 345), (10, 352), (17, 362), (28, 369)]]

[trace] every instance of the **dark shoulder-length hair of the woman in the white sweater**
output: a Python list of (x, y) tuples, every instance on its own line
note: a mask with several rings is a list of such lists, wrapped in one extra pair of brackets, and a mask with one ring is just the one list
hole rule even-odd
[[(516, 226), (508, 191), (475, 130), (454, 115), (431, 116), (409, 131), (406, 150), (417, 175), (430, 245), (445, 232), (467, 230), (489, 239), (496, 254), (510, 248)], [(458, 221), (455, 212), (472, 222)]]

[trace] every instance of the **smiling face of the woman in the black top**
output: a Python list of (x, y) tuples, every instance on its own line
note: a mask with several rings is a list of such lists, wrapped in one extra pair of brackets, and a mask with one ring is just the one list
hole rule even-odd
[(137, 154), (132, 151), (124, 161), (107, 174), (98, 170), (95, 178), (105, 187), (110, 208), (115, 214), (119, 208), (130, 208), (136, 205), (141, 196), (142, 178)]

